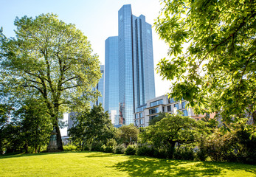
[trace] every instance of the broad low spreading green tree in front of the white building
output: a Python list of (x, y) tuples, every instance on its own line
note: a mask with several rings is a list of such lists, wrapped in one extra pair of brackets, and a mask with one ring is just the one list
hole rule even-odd
[(172, 152), (176, 143), (190, 144), (205, 132), (204, 122), (190, 117), (165, 114), (165, 118), (150, 125), (139, 134), (140, 142), (148, 143), (156, 148), (165, 148)]

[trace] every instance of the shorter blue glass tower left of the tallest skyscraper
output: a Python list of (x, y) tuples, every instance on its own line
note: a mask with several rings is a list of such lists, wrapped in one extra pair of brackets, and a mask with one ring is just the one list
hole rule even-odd
[(108, 111), (111, 122), (119, 124), (119, 67), (118, 36), (105, 40), (105, 111)]

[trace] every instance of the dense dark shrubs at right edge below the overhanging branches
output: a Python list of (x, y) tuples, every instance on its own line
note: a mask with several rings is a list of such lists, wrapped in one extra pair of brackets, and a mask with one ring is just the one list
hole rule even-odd
[(246, 119), (229, 125), (229, 131), (216, 129), (210, 136), (199, 141), (199, 150), (203, 151), (202, 153), (206, 151), (207, 156), (215, 162), (255, 164), (256, 139), (245, 127)]

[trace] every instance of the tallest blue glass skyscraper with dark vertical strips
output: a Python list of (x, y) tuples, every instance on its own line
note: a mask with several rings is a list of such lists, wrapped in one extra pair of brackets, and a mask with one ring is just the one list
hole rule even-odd
[[(133, 15), (131, 4), (122, 6), (118, 11), (118, 52), (108, 52), (118, 53), (118, 124), (128, 125), (134, 122), (135, 109), (155, 97), (151, 24), (145, 21), (144, 15)], [(110, 95), (105, 97), (111, 100)], [(105, 111), (109, 111), (107, 106)]]

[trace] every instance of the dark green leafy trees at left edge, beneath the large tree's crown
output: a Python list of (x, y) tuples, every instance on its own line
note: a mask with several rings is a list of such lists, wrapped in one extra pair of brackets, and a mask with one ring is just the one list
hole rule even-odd
[(23, 150), (28, 153), (30, 147), (38, 153), (48, 144), (52, 123), (46, 105), (38, 100), (26, 100), (21, 108), (13, 111), (12, 117), (11, 122), (0, 126), (1, 153)]

